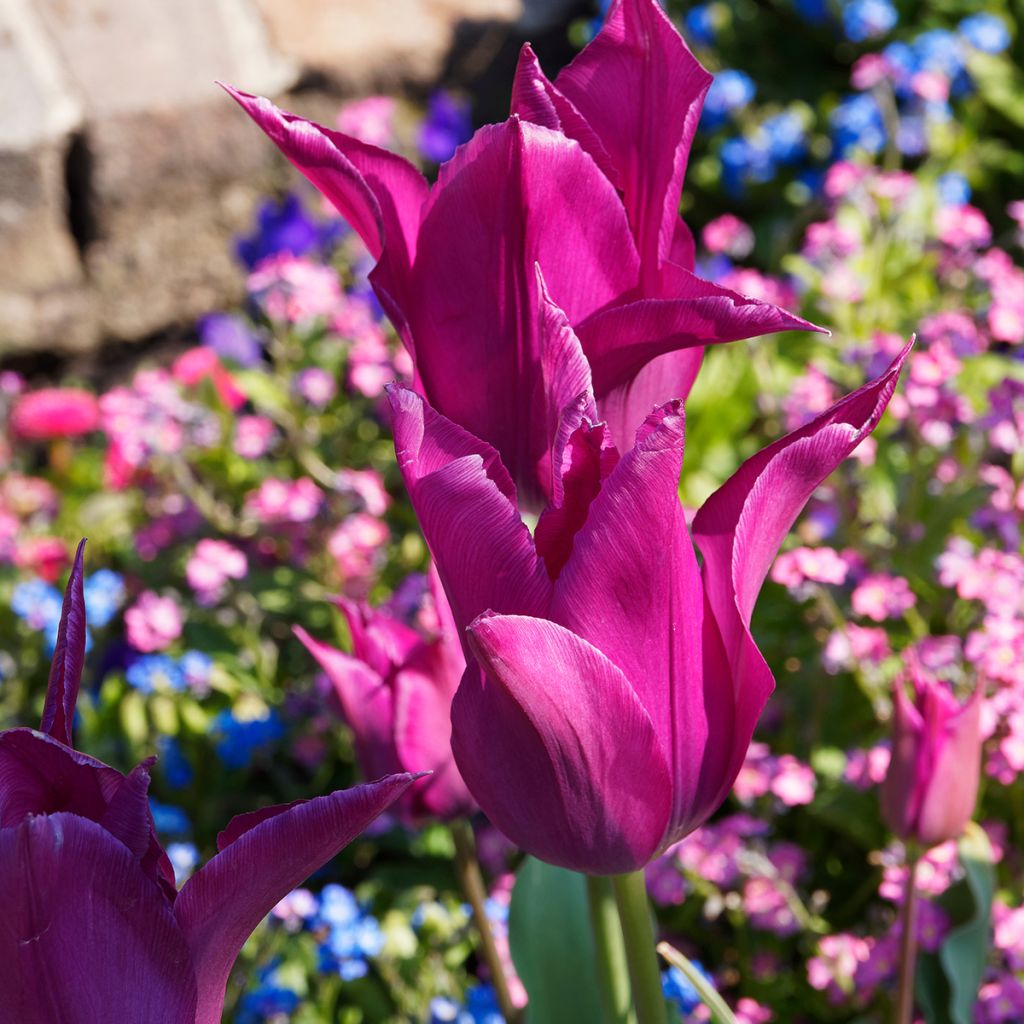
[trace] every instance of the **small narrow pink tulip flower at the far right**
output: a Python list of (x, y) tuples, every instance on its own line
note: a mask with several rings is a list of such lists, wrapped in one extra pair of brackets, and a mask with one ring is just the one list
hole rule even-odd
[(893, 690), (892, 760), (882, 816), (902, 840), (930, 848), (957, 839), (974, 814), (981, 776), (984, 687), (961, 705), (943, 683), (910, 665)]

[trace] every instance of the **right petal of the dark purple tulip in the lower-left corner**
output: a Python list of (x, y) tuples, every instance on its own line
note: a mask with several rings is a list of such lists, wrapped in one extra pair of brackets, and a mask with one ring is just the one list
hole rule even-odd
[(392, 775), (267, 817), (184, 884), (174, 913), (196, 965), (196, 1024), (219, 1024), (231, 967), (270, 909), (390, 807), (414, 778)]

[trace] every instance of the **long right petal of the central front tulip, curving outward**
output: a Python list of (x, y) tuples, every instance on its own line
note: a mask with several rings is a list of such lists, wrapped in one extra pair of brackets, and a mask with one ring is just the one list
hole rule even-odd
[[(693, 520), (702, 578), (735, 692), (731, 777), (774, 688), (750, 623), (771, 562), (815, 487), (874, 429), (895, 390), (910, 346), (877, 380), (799, 430), (759, 452), (708, 499)], [(716, 671), (707, 667), (706, 673)], [(731, 784), (731, 779), (730, 779)], [(722, 797), (724, 799), (725, 793)]]

